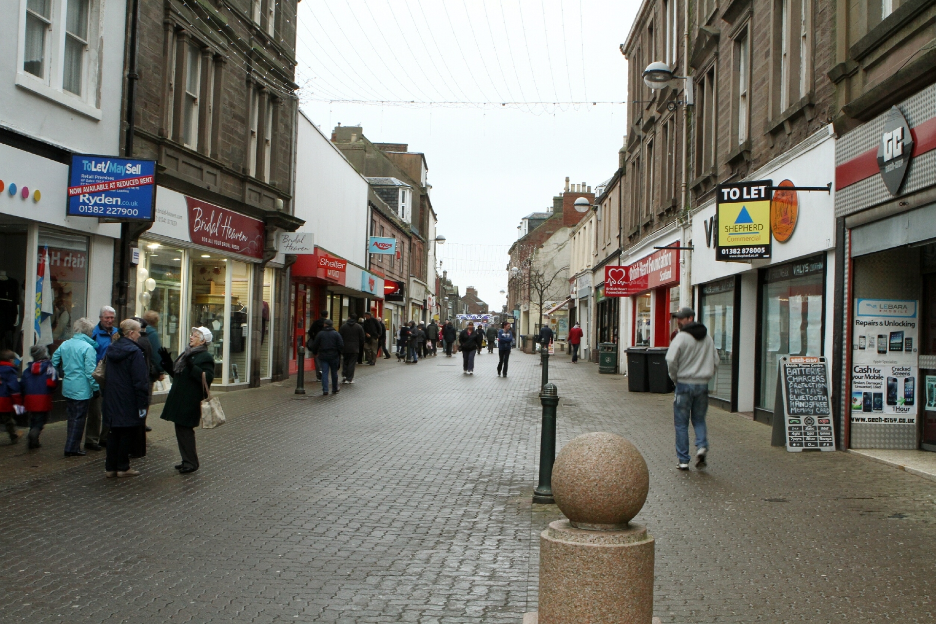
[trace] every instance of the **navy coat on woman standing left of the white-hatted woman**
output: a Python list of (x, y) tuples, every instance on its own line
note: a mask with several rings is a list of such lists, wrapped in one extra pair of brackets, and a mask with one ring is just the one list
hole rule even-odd
[(150, 370), (139, 344), (129, 338), (108, 347), (102, 422), (108, 427), (139, 427), (139, 411), (150, 405)]

